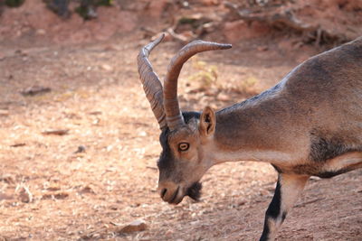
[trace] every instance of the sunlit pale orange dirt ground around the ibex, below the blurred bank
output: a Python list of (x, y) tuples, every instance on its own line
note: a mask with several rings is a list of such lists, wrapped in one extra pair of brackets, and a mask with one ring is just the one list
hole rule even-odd
[[(159, 198), (159, 131), (136, 66), (149, 39), (140, 30), (110, 35), (1, 39), (0, 240), (257, 240), (276, 181), (269, 164), (214, 166), (200, 202)], [(296, 41), (257, 37), (200, 54), (181, 74), (182, 108), (220, 109), (270, 88), (321, 51), (291, 48)], [(152, 53), (161, 79), (181, 46)], [(211, 69), (211, 83), (195, 78)], [(361, 174), (311, 179), (278, 240), (361, 240)], [(146, 230), (119, 232), (138, 219)]]

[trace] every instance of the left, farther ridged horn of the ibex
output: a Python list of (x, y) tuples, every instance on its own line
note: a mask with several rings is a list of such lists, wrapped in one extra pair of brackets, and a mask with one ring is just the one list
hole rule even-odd
[(154, 42), (148, 43), (148, 45), (139, 51), (137, 58), (139, 79), (142, 82), (146, 97), (148, 98), (153, 114), (156, 116), (161, 130), (167, 127), (163, 105), (163, 88), (157, 74), (148, 60), (148, 55), (153, 48), (155, 48), (157, 44), (164, 39), (164, 37), (165, 34), (162, 34)]

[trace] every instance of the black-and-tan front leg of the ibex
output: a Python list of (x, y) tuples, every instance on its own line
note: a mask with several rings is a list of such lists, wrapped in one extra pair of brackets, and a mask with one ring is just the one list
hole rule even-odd
[(264, 229), (260, 241), (274, 240), (278, 228), (287, 216), (295, 201), (304, 189), (309, 176), (297, 176), (280, 173), (274, 197), (266, 211)]

